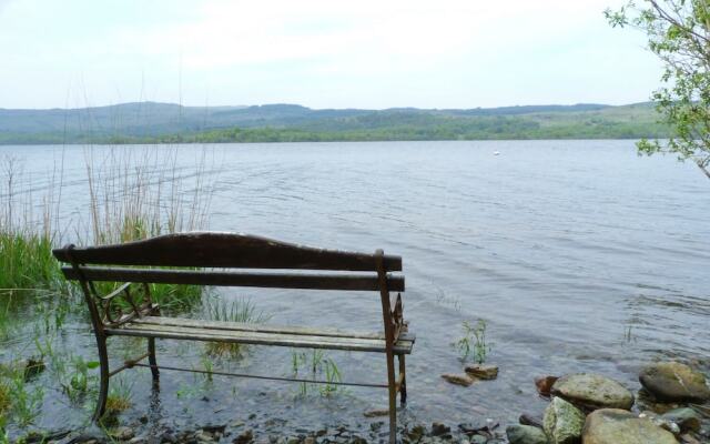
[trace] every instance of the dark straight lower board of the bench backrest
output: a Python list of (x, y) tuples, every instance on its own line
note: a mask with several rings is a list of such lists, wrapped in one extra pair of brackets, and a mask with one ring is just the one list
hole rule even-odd
[[(78, 280), (77, 270), (63, 266), (68, 280)], [(362, 274), (304, 274), (304, 273), (248, 273), (212, 270), (154, 270), (82, 266), (81, 272), (90, 281), (148, 282), (185, 285), (255, 286), (270, 289), (308, 289), (375, 291), (377, 278)], [(392, 291), (404, 291), (404, 276), (387, 278)]]

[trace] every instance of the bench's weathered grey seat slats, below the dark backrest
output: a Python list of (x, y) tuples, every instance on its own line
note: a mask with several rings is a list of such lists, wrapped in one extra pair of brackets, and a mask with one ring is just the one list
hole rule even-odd
[[(265, 327), (266, 330), (261, 331), (230, 330), (204, 325), (203, 322), (199, 322), (203, 324), (202, 326), (199, 326), (196, 324), (185, 325), (182, 322), (182, 325), (170, 325), (170, 321), (163, 324), (144, 323), (142, 322), (143, 320), (139, 320), (138, 322), (129, 322), (124, 325), (121, 325), (120, 327), (105, 329), (104, 331), (108, 334), (121, 336), (239, 342), (243, 344), (256, 345), (282, 345), (292, 347), (328, 349), (361, 352), (385, 352), (384, 340), (372, 337), (328, 335), (333, 332), (333, 330), (324, 330), (325, 334), (318, 334), (315, 331), (311, 334), (307, 334), (303, 329), (297, 327), (288, 327), (281, 332), (274, 332), (273, 327)], [(175, 321), (175, 319), (172, 319), (172, 321)], [(226, 324), (225, 326), (229, 326), (230, 323), (224, 324)], [(344, 334), (344, 332), (341, 333)], [(406, 335), (403, 335), (399, 341), (397, 341), (394, 351), (397, 354), (409, 354), (413, 346), (414, 335), (407, 333)]]

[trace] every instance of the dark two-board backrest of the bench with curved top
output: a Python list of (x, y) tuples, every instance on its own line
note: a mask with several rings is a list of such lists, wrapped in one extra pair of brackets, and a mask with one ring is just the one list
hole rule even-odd
[[(68, 280), (363, 291), (383, 290), (379, 274), (386, 273), (386, 289), (404, 291), (404, 276), (388, 274), (402, 271), (399, 256), (384, 255), (381, 251), (364, 254), (314, 249), (245, 234), (166, 234), (115, 245), (67, 245), (53, 250), (53, 254), (71, 264), (62, 268)], [(303, 271), (359, 273), (314, 274)]]

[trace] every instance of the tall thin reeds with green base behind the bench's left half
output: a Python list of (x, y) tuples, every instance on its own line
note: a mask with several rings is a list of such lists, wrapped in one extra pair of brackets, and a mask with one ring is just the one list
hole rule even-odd
[[(205, 159), (203, 153), (194, 170), (181, 171), (176, 151), (143, 152), (135, 159), (131, 150), (111, 150), (100, 160), (89, 151), (87, 232), (91, 238), (80, 241), (103, 245), (204, 229), (211, 201)], [(184, 182), (187, 178), (190, 186)], [(103, 283), (98, 290), (105, 294), (119, 284)], [(165, 313), (189, 311), (203, 295), (203, 289), (196, 285), (151, 284), (150, 291)]]

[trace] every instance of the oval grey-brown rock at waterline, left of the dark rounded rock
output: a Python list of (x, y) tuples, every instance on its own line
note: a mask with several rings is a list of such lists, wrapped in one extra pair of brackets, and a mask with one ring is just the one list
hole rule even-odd
[(630, 410), (633, 394), (618, 382), (597, 374), (578, 373), (560, 377), (550, 389), (555, 396), (588, 410)]

